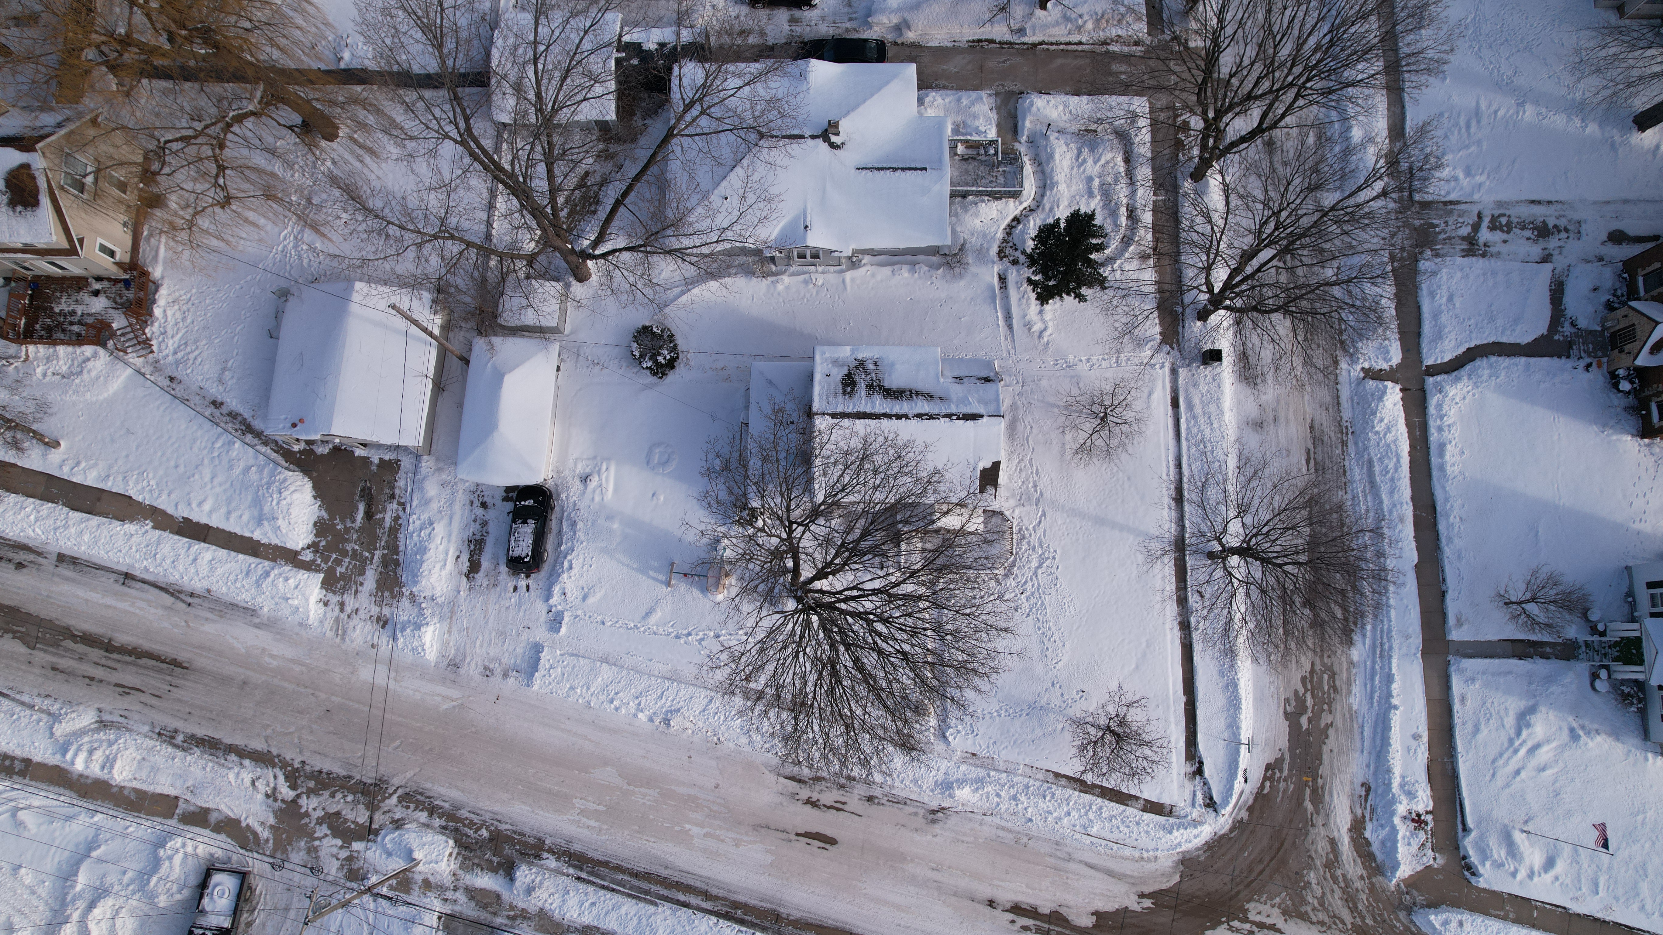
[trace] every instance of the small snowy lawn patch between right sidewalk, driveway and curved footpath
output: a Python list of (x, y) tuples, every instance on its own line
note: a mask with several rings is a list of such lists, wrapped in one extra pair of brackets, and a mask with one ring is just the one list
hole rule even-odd
[(1548, 329), (1548, 263), (1437, 260), (1422, 268), (1420, 356), (1429, 364), (1487, 341), (1523, 344)]

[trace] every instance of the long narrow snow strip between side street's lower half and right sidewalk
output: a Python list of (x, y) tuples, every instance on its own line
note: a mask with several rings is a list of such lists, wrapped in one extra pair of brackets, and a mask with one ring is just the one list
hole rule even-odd
[(1385, 527), (1397, 571), (1382, 619), (1359, 636), (1352, 697), (1362, 727), (1357, 750), (1367, 784), (1369, 842), (1380, 872), (1402, 880), (1432, 862), (1409, 436), (1395, 383), (1352, 378), (1342, 383), (1342, 393), (1352, 429), (1352, 491)]

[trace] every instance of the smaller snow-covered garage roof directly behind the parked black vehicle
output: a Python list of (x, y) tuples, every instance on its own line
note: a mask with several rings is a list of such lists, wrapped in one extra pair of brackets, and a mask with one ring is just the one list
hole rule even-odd
[(469, 353), (456, 476), (499, 487), (549, 476), (560, 346), (539, 338), (479, 338)]

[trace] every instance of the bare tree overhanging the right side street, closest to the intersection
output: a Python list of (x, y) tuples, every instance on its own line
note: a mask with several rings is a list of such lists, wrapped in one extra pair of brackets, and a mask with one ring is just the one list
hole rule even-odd
[[(1267, 453), (1209, 451), (1186, 499), (1196, 637), (1267, 662), (1344, 647), (1385, 596), (1385, 534), (1345, 501), (1344, 481), (1284, 468)], [(1176, 537), (1154, 539), (1171, 561)]]

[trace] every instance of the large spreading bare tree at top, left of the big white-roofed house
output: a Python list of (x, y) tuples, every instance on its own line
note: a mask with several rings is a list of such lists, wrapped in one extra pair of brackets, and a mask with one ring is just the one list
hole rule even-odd
[[(489, 258), (540, 278), (587, 281), (595, 265), (713, 263), (753, 248), (772, 208), (762, 180), (712, 176), (777, 145), (792, 120), (788, 62), (742, 62), (752, 37), (715, 8), (682, 10), (700, 40), (640, 82), (615, 87), (622, 0), (517, 0), (494, 37), (486, 0), (368, 0), (361, 25), (386, 72), (422, 70), (437, 90), (399, 95), (384, 133), (421, 173), (338, 173), (334, 185), (378, 258), (429, 268)], [(489, 68), (491, 92), (474, 88)], [(619, 113), (614, 123), (614, 106)], [(397, 156), (394, 156), (394, 161)], [(564, 270), (552, 265), (559, 258)]]

